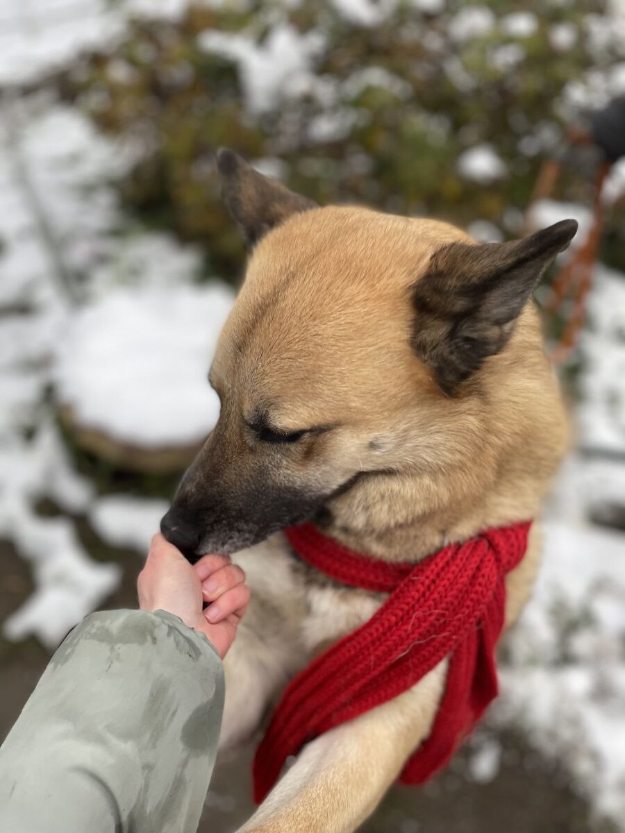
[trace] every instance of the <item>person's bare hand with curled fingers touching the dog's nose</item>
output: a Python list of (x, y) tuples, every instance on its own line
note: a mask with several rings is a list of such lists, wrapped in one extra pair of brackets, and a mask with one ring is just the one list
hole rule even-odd
[[(139, 573), (137, 590), (143, 611), (168, 611), (201, 631), (226, 656), (248, 606), (245, 573), (228, 556), (203, 556), (191, 566), (173, 544), (158, 533)], [(209, 603), (203, 611), (203, 602)]]

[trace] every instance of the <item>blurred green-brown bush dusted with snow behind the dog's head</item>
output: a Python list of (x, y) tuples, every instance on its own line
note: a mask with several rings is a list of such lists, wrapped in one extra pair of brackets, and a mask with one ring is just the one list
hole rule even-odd
[[(111, 56), (70, 73), (67, 90), (101, 127), (148, 148), (123, 183), (128, 204), (229, 273), (242, 253), (212, 174), (219, 145), (278, 158), (280, 177), (322, 203), (480, 218), (513, 236), (511, 208), (527, 206), (563, 123), (577, 104), (602, 102), (597, 86), (603, 97), (622, 87), (623, 24), (604, 10), (198, 3), (174, 24), (137, 22)], [(571, 176), (558, 196), (580, 189)]]

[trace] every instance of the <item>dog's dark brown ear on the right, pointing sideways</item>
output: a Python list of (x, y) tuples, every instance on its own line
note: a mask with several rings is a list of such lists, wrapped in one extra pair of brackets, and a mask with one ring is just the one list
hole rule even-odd
[(577, 232), (562, 220), (506, 243), (449, 243), (413, 287), (413, 348), (453, 395), (502, 350), (545, 269)]

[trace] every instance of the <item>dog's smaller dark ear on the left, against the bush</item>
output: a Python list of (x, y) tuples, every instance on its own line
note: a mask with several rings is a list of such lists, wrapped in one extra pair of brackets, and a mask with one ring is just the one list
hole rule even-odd
[(317, 207), (313, 200), (289, 191), (275, 179), (264, 177), (227, 147), (219, 148), (217, 167), (223, 200), (248, 247), (253, 247), (292, 214)]

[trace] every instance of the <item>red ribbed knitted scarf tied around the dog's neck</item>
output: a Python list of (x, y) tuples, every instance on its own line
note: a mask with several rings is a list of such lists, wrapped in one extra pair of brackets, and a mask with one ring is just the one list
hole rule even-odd
[(263, 801), (288, 756), (305, 743), (407, 691), (448, 656), (433, 729), (400, 780), (423, 783), (446, 764), (497, 696), (504, 579), (525, 554), (529, 527), (490, 529), (418, 564), (360, 556), (311, 524), (288, 529), (303, 561), (343, 584), (390, 595), (287, 686), (254, 760), (255, 800)]

